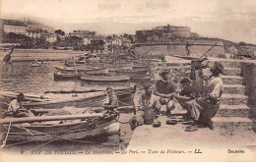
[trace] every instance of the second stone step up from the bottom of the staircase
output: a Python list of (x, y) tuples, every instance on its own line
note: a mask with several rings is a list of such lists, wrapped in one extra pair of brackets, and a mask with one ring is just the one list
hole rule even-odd
[(224, 105), (222, 104), (216, 117), (250, 117), (250, 108), (245, 105)]

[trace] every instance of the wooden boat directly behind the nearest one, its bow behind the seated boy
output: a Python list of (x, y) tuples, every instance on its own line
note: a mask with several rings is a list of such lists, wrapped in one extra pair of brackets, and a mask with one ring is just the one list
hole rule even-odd
[[(123, 87), (116, 89), (115, 93), (119, 100), (119, 105), (131, 104), (136, 87)], [(15, 99), (18, 93), (1, 92), (1, 107), (7, 108), (10, 100)], [(97, 91), (48, 91), (42, 96), (30, 96), (25, 94), (26, 100), (23, 102), (25, 108), (54, 109), (65, 106), (73, 107), (100, 107), (106, 101), (106, 92)]]

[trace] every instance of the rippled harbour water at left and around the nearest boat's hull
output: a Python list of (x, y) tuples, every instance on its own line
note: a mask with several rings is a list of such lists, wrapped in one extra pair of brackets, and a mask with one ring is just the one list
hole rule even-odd
[[(53, 73), (55, 66), (63, 66), (63, 63), (52, 61), (47, 64), (41, 64), (38, 67), (32, 67), (32, 62), (13, 62), (2, 70), (1, 73), (1, 90), (13, 91), (13, 92), (25, 92), (32, 94), (43, 94), (47, 90), (72, 90), (76, 88), (83, 89), (83, 87), (88, 87), (95, 85), (94, 83), (85, 83), (80, 81), (65, 81), (65, 82), (54, 82)], [(112, 83), (104, 84), (109, 85)], [(129, 84), (129, 83), (128, 83)], [(96, 83), (96, 85), (102, 85), (102, 83)], [(117, 83), (115, 85), (127, 85), (127, 83)], [(121, 114), (120, 121), (127, 122), (131, 119), (132, 114)], [(94, 138), (94, 141), (101, 143), (127, 143), (131, 138), (131, 130), (129, 124), (120, 124), (120, 136), (113, 135), (110, 137), (100, 137)], [(93, 139), (90, 139), (93, 140)], [(37, 145), (43, 143), (26, 143), (19, 146), (12, 146), (5, 148), (8, 151), (18, 150), (26, 151), (30, 150)], [(99, 144), (88, 144), (81, 142), (51, 142), (49, 144), (43, 145), (40, 149), (75, 149), (75, 150), (85, 150), (85, 149), (108, 149), (109, 146), (99, 145)], [(116, 149), (116, 148), (114, 148)]]

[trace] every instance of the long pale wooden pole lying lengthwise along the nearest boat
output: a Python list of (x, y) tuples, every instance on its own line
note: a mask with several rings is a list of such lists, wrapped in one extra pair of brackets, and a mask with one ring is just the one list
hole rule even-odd
[[(31, 123), (31, 122), (42, 122), (42, 121), (75, 120), (75, 119), (87, 119), (87, 118), (95, 118), (95, 117), (102, 117), (102, 116), (103, 116), (103, 113), (13, 118), (12, 123), (15, 124), (15, 123)], [(9, 122), (10, 122), (10, 118), (0, 120), (0, 124), (7, 124)]]

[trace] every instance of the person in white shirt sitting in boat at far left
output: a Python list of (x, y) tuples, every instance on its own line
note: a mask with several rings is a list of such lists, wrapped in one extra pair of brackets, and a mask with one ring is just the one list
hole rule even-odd
[(34, 116), (31, 110), (24, 109), (22, 102), (25, 99), (24, 93), (20, 93), (17, 95), (17, 99), (11, 101), (8, 106), (8, 110), (4, 112), (3, 118), (15, 117), (15, 118), (23, 118), (23, 117), (32, 117)]

